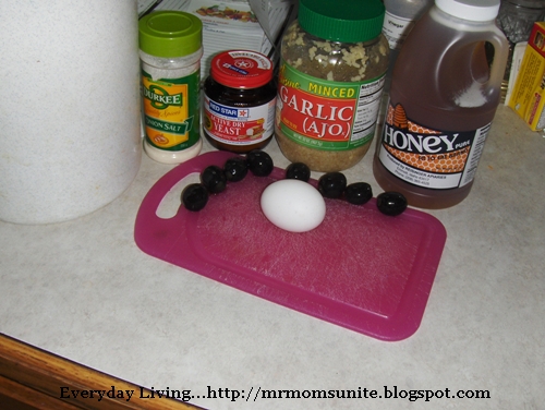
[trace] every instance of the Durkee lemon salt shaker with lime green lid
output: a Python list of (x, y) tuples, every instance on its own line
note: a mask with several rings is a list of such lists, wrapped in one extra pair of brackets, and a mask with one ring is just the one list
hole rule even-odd
[(140, 21), (144, 102), (144, 149), (164, 164), (198, 155), (203, 23), (175, 11), (154, 12)]

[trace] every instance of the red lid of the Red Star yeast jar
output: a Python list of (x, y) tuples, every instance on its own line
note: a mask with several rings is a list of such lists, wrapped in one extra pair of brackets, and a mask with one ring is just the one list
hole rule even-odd
[(272, 62), (259, 52), (223, 51), (211, 60), (210, 75), (227, 87), (257, 88), (272, 80)]

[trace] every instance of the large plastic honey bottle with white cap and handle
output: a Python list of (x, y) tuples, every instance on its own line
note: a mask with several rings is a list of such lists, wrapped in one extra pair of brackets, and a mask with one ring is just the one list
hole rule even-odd
[(498, 9), (436, 0), (401, 49), (373, 171), (412, 206), (445, 208), (470, 193), (507, 61)]

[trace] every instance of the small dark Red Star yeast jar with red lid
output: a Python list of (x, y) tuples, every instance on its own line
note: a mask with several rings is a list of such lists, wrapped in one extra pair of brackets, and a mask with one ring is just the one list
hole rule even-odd
[(202, 125), (214, 147), (240, 154), (265, 147), (274, 133), (275, 106), (272, 63), (266, 56), (230, 50), (214, 57)]

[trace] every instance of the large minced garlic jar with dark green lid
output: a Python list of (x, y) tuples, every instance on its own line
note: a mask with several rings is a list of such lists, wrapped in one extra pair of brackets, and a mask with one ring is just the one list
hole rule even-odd
[(283, 155), (341, 171), (367, 153), (380, 108), (388, 41), (379, 0), (301, 0), (281, 43), (275, 134)]

